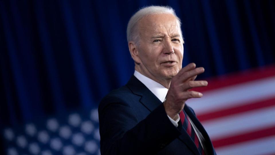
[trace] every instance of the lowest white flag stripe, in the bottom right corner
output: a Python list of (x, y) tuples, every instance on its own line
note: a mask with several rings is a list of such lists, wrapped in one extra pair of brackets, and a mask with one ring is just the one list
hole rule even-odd
[(275, 136), (261, 138), (249, 142), (237, 143), (230, 146), (216, 148), (219, 155), (259, 155), (275, 154)]

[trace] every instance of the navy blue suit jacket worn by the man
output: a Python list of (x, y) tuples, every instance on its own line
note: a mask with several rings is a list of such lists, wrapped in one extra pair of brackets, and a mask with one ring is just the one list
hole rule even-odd
[[(208, 154), (216, 154), (194, 111), (187, 105), (184, 110), (205, 138)], [(162, 102), (135, 76), (105, 96), (98, 111), (103, 155), (200, 154), (181, 121), (175, 127)]]

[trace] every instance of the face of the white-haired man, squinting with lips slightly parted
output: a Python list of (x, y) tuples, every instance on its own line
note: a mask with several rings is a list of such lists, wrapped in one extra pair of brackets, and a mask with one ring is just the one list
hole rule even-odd
[(171, 79), (182, 68), (183, 59), (183, 40), (176, 17), (150, 15), (138, 26), (140, 44), (137, 51), (142, 73), (155, 81)]

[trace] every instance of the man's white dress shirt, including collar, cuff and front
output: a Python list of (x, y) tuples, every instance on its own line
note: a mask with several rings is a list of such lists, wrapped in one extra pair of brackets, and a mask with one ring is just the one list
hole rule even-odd
[[(165, 88), (164, 86), (162, 86), (162, 84), (142, 75), (140, 72), (136, 71), (134, 72), (134, 76), (140, 80), (140, 82), (142, 82), (161, 102), (164, 102), (166, 100), (166, 95), (167, 95), (167, 92), (168, 92), (168, 89)], [(167, 115), (168, 116), (168, 115)], [(175, 127), (178, 127), (178, 121), (180, 121), (180, 116), (177, 115), (176, 117), (176, 121), (173, 120), (171, 117), (168, 116), (168, 118), (170, 119), (170, 121), (173, 123), (173, 125)], [(189, 119), (190, 121), (190, 124), (192, 125), (195, 133), (197, 134), (197, 137), (199, 138), (199, 141), (201, 143), (201, 145), (203, 145), (204, 142), (202, 141), (205, 141), (201, 132), (197, 129), (197, 127), (193, 124), (192, 120)], [(205, 149), (205, 148), (204, 148)]]

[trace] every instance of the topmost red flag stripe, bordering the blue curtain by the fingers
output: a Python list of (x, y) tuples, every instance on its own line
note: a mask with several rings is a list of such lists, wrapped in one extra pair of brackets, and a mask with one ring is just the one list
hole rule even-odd
[(219, 77), (205, 79), (208, 81), (208, 86), (193, 88), (191, 90), (198, 92), (205, 92), (209, 90), (214, 90), (221, 87), (227, 87), (239, 83), (250, 82), (254, 80), (259, 80), (262, 78), (268, 78), (275, 76), (275, 65), (270, 65), (266, 67), (261, 67), (257, 69), (249, 69), (239, 73), (231, 73), (221, 75)]

